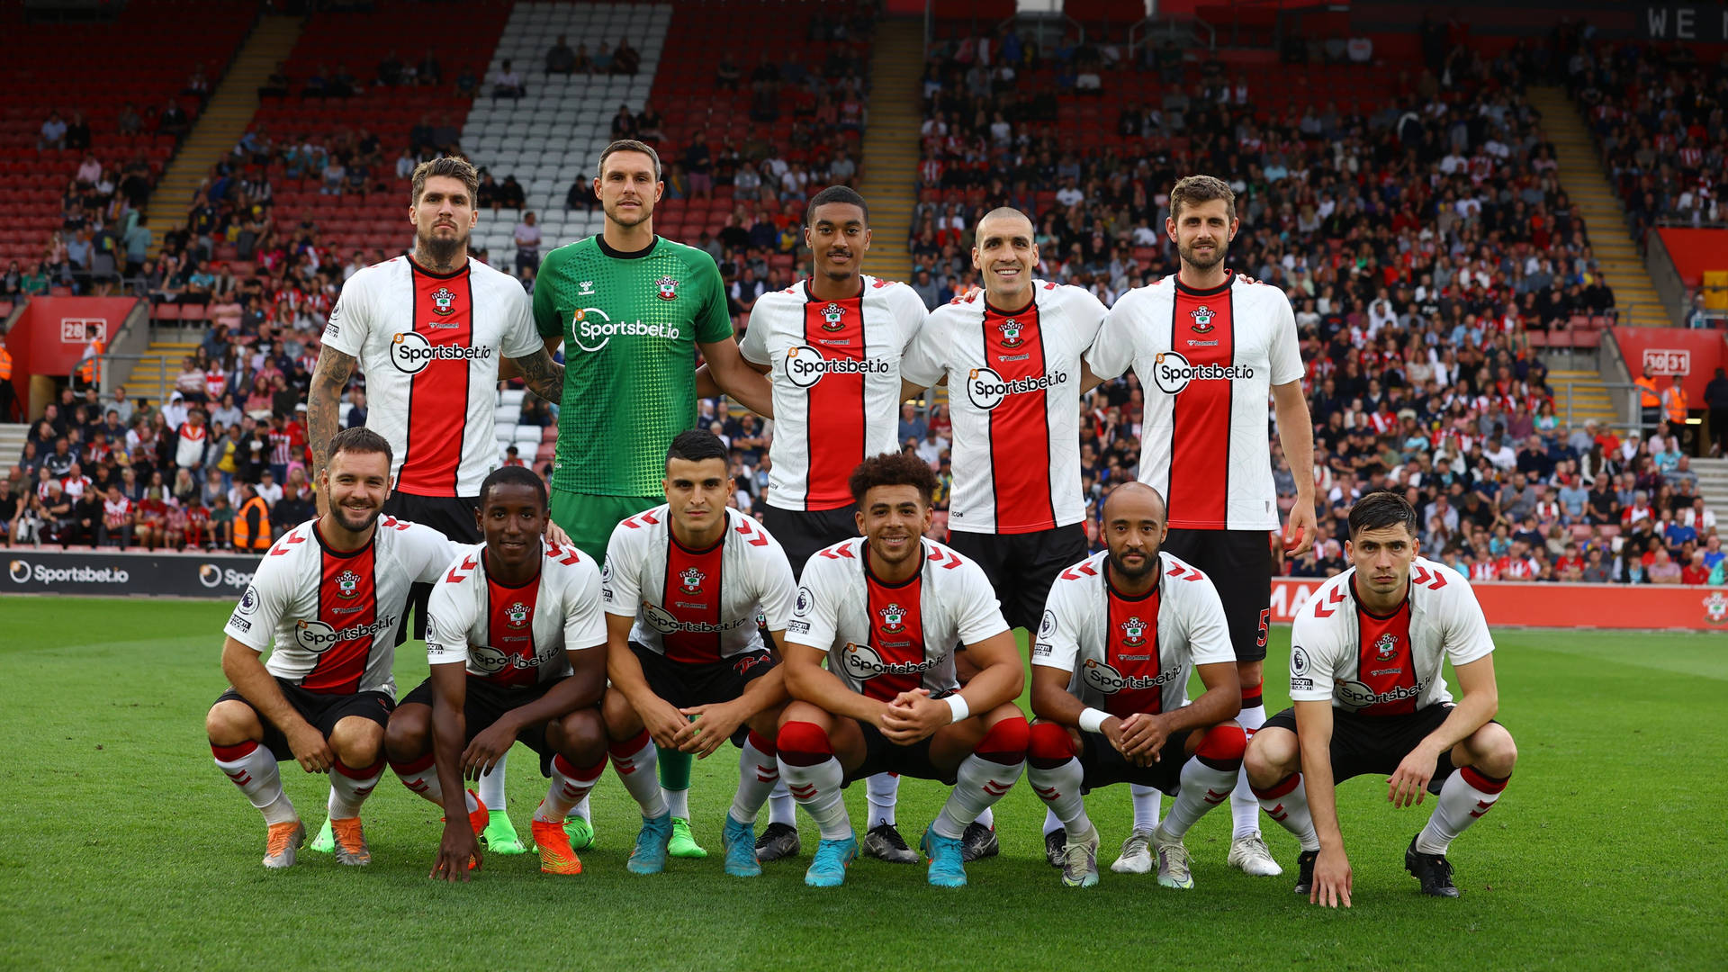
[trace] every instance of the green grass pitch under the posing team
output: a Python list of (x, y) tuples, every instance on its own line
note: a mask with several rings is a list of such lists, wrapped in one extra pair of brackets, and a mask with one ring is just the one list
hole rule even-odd
[[(1025, 783), (997, 806), (1002, 856), (973, 865), (964, 891), (880, 861), (812, 891), (810, 842), (757, 880), (727, 879), (729, 749), (696, 766), (691, 794), (712, 856), (660, 877), (624, 870), (639, 816), (610, 770), (581, 877), (494, 854), (472, 884), (429, 882), (439, 813), (389, 775), (366, 804), (370, 868), (302, 853), (266, 873), (263, 822), (211, 764), (202, 732), (223, 688), (226, 612), (0, 598), (0, 969), (1728, 967), (1718, 636), (1502, 631), (1500, 718), (1522, 756), (1495, 813), (1453, 846), (1464, 898), (1426, 899), (1403, 873), (1431, 804), (1393, 811), (1384, 782), (1358, 778), (1339, 801), (1356, 906), (1324, 911), (1287, 877), (1223, 865), (1227, 808), (1189, 834), (1192, 892), (1109, 872), (1096, 891), (1068, 891), (1044, 863), (1044, 808)], [(1277, 631), (1270, 671), (1287, 645)], [(422, 659), (413, 642), (399, 654), (403, 692), (423, 678)], [(1268, 706), (1282, 706), (1280, 680), (1268, 681)], [(511, 815), (527, 832), (544, 780), (517, 754)], [(292, 763), (283, 778), (316, 827), (325, 780)], [(854, 820), (862, 799), (854, 787)], [(935, 783), (905, 782), (909, 839), (940, 799)], [(1092, 794), (1090, 808), (1115, 860), (1128, 794)], [(1294, 841), (1268, 827), (1293, 866)]]

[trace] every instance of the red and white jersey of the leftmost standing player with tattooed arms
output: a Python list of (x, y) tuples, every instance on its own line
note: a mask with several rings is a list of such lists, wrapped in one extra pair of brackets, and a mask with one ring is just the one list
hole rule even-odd
[(543, 348), (511, 277), (468, 259), (437, 275), (406, 256), (342, 285), (323, 342), (366, 374), (366, 425), (389, 439), (396, 489), (479, 496), (498, 469), (498, 360)]

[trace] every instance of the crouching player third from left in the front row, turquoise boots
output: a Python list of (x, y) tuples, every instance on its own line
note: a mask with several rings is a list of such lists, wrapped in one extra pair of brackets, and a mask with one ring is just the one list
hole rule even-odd
[[(727, 739), (741, 751), (726, 815), (726, 873), (755, 877), (755, 818), (779, 782), (774, 735), (786, 704), (776, 647), (791, 612), (791, 566), (733, 495), (726, 444), (679, 432), (665, 453), (665, 505), (636, 514), (607, 547), (607, 732), (624, 787), (643, 808), (629, 870), (658, 873), (672, 839), (670, 809), (645, 771), (655, 745), (698, 758)], [(650, 739), (653, 740), (650, 744)]]

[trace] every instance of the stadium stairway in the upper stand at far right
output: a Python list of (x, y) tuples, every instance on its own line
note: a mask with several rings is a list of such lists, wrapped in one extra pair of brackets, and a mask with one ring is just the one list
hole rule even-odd
[(1619, 322), (1636, 327), (1669, 327), (1673, 322), (1655, 294), (1655, 284), (1643, 266), (1643, 256), (1626, 232), (1626, 209), (1609, 185), (1602, 168), (1602, 154), (1585, 116), (1566, 90), (1559, 86), (1531, 86), (1529, 104), (1541, 111), (1541, 125), (1553, 142), (1560, 163), (1560, 189), (1585, 218), (1590, 230), (1590, 247), (1597, 263), (1614, 289)]

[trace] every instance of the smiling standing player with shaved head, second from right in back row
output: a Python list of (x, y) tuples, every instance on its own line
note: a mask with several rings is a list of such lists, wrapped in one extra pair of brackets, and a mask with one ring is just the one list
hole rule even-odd
[[(1056, 574), (1087, 557), (1080, 396), (1099, 380), (1082, 353), (1104, 304), (1083, 287), (1033, 280), (1039, 246), (1020, 209), (985, 213), (975, 239), (982, 299), (973, 292), (931, 311), (900, 363), (902, 398), (949, 386), (949, 545), (983, 567), (1002, 616), (1030, 633)], [(1156, 806), (1156, 790), (1151, 799)], [(1044, 828), (1059, 863), (1063, 825), (1051, 813)], [(994, 828), (973, 825), (966, 837), (969, 853), (995, 853)]]

